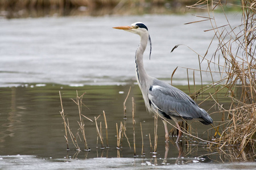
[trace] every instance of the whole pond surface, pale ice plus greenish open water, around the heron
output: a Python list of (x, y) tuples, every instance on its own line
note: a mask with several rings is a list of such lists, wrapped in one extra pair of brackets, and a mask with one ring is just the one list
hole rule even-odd
[[(225, 18), (216, 17), (220, 25), (226, 24)], [(230, 23), (239, 23), (236, 17), (237, 14), (230, 14)], [(179, 46), (170, 54), (171, 49), (185, 44), (204, 54), (212, 38), (212, 33), (204, 32), (210, 29), (209, 23), (184, 25), (193, 20), (198, 19), (192, 15), (1, 19), (0, 169), (254, 169), (254, 158), (245, 156), (247, 162), (236, 160), (240, 153), (237, 148), (209, 149), (207, 143), (187, 136), (179, 145), (174, 142), (175, 136), (171, 137), (166, 145), (161, 120), (158, 120), (157, 152), (152, 153), (149, 137), (154, 144), (154, 116), (146, 112), (135, 83), (134, 53), (139, 37), (112, 27), (144, 22), (153, 45), (151, 60), (149, 50), (145, 52), (147, 72), (170, 83), (177, 66), (199, 68), (197, 54), (185, 46)], [(201, 66), (204, 69), (207, 64)], [(208, 83), (212, 78), (203, 74), (203, 79)], [(173, 83), (189, 94), (187, 86), (180, 86), (187, 85), (187, 70), (177, 69)], [(200, 84), (198, 76), (196, 83)], [(130, 87), (124, 120), (123, 101)], [(74, 134), (79, 129), (79, 113), (71, 99), (76, 99), (76, 91), (79, 95), (86, 92), (82, 114), (92, 120), (101, 115), (97, 123), (99, 127), (100, 122), (102, 124), (104, 149), (97, 141), (95, 122), (84, 119), (90, 151), (84, 151), (80, 139), (81, 151), (77, 151), (71, 138), (67, 151), (59, 91)], [(135, 100), (135, 158), (131, 97)], [(228, 107), (229, 101), (222, 97), (220, 103)], [(212, 113), (215, 111), (212, 104), (213, 101), (209, 101), (201, 107)], [(109, 148), (106, 148), (103, 111), (108, 122)], [(219, 114), (211, 116), (216, 122), (221, 120)], [(119, 128), (121, 122), (126, 125), (131, 148), (123, 137), (122, 148), (117, 150), (116, 125)], [(199, 122), (189, 124), (200, 138), (209, 139), (214, 134), (208, 130), (209, 126)]]

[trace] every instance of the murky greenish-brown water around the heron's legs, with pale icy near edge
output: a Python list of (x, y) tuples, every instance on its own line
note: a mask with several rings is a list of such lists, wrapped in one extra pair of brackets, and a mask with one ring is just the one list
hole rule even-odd
[[(44, 85), (44, 86), (43, 86)], [(126, 101), (126, 119), (123, 119), (123, 101), (125, 101), (130, 86), (83, 86), (71, 87), (59, 84), (26, 84), (20, 87), (2, 87), (1, 92), (1, 109), (0, 109), (0, 165), (1, 167), (9, 167), (14, 165), (15, 168), (24, 168), (24, 164), (35, 168), (39, 163), (40, 167), (47, 167), (44, 164), (50, 164), (56, 168), (65, 167), (64, 163), (71, 163), (70, 166), (82, 162), (75, 167), (80, 168), (87, 165), (87, 168), (93, 167), (93, 162), (104, 168), (123, 168), (128, 166), (135, 167), (152, 167), (161, 166), (168, 168), (179, 164), (214, 164), (214, 166), (222, 167), (219, 163), (233, 162), (234, 155), (238, 155), (240, 151), (237, 148), (223, 148), (218, 150), (216, 147), (208, 148), (207, 142), (198, 142), (195, 139), (184, 135), (183, 141), (176, 145), (176, 136), (170, 137), (168, 142), (168, 150), (164, 139), (164, 127), (162, 121), (158, 120), (158, 145), (157, 152), (153, 153), (150, 147), (151, 142), (154, 145), (154, 116), (146, 112), (141, 92), (137, 85), (131, 86), (130, 95)], [(189, 94), (187, 87), (179, 86), (181, 90)], [(101, 149), (100, 141), (97, 141), (97, 132), (95, 122), (85, 121), (86, 141), (90, 147), (90, 151), (84, 151), (84, 143), (80, 140), (79, 146), (81, 151), (72, 144), (69, 137), (69, 151), (65, 142), (65, 131), (63, 120), (60, 116), (61, 111), (59, 91), (63, 100), (64, 113), (69, 120), (69, 125), (74, 134), (76, 134), (79, 126), (79, 112), (77, 105), (71, 99), (76, 100), (77, 93), (82, 95), (83, 103), (82, 114), (94, 120), (98, 118), (98, 126), (102, 123), (102, 136), (104, 137), (104, 149)], [(135, 99), (135, 146), (136, 152), (134, 159), (133, 149), (133, 124), (132, 124), (132, 103), (131, 97)], [(223, 96), (222, 96), (223, 97)], [(220, 96), (220, 104), (229, 105), (229, 101)], [(201, 99), (197, 102), (200, 103)], [(212, 102), (203, 103), (202, 108), (212, 113)], [(102, 111), (106, 113), (108, 122), (108, 143), (106, 148), (105, 122)], [(220, 114), (212, 114), (213, 120), (217, 122), (221, 120)], [(117, 131), (120, 123), (126, 124), (126, 134), (130, 142), (130, 146), (125, 137), (122, 140), (121, 150), (117, 150)], [(171, 121), (173, 124), (174, 122)], [(197, 135), (203, 139), (209, 139), (214, 134), (214, 130), (208, 130), (209, 126), (204, 126), (200, 122), (188, 122), (191, 125), (192, 133), (195, 130)], [(142, 154), (142, 136), (143, 131), (144, 154)], [(168, 128), (171, 130), (171, 126)], [(250, 153), (250, 152), (249, 152)], [(10, 156), (7, 156), (10, 155)], [(27, 155), (27, 156), (23, 156)], [(101, 158), (101, 159), (94, 159)], [(106, 160), (102, 158), (115, 158)], [(119, 159), (126, 158), (126, 159)], [(248, 160), (252, 157), (246, 156)], [(75, 160), (74, 160), (75, 159)], [(18, 160), (18, 161), (17, 161)], [(88, 160), (88, 162), (87, 162)], [(85, 162), (84, 162), (85, 161)], [(110, 161), (110, 162), (109, 162)], [(108, 163), (106, 163), (108, 162)], [(116, 163), (116, 164), (114, 164)], [(162, 165), (168, 165), (162, 167)], [(232, 164), (230, 164), (232, 165)], [(239, 163), (238, 163), (239, 165)], [(250, 167), (251, 163), (245, 164)], [(68, 165), (69, 166), (69, 165)], [(193, 165), (194, 166), (194, 165)], [(228, 164), (225, 164), (228, 166)], [(13, 168), (12, 166), (10, 169)], [(86, 167), (86, 166), (85, 166)], [(4, 169), (5, 169), (4, 168)], [(179, 168), (179, 167), (176, 167)], [(195, 165), (194, 168), (198, 168)], [(236, 166), (230, 169), (236, 169)]]

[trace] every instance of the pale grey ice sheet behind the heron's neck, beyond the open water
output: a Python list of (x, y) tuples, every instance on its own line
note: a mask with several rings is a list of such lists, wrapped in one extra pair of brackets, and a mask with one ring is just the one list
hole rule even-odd
[[(207, 14), (202, 14), (207, 16)], [(229, 14), (231, 25), (237, 25), (239, 14)], [(224, 16), (216, 15), (217, 26), (227, 24)], [(184, 24), (201, 20), (186, 15), (142, 15), (103, 17), (26, 18), (0, 20), (0, 86), (19, 86), (26, 83), (58, 84), (126, 84), (134, 80), (134, 55), (139, 36), (113, 29), (119, 25), (143, 22), (152, 40), (144, 54), (144, 65), (149, 75), (170, 83), (177, 66), (199, 69), (198, 55), (204, 56), (214, 35), (210, 22)], [(228, 29), (228, 27), (226, 28)], [(212, 58), (217, 40), (208, 50)], [(214, 61), (214, 59), (213, 59)], [(223, 62), (218, 61), (217, 62)], [(207, 69), (207, 61), (201, 69)], [(212, 70), (217, 69), (216, 67)], [(118, 71), (117, 71), (118, 70)], [(192, 80), (193, 71), (189, 71)], [(196, 72), (196, 83), (200, 74)], [(212, 81), (203, 74), (204, 83)], [(219, 79), (218, 74), (214, 75)], [(187, 84), (187, 70), (177, 69), (174, 84)]]

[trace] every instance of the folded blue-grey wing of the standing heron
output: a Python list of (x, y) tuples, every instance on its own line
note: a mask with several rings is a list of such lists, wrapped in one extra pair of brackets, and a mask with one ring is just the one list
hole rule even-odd
[(183, 117), (187, 120), (208, 117), (208, 113), (199, 108), (195, 101), (183, 91), (170, 84), (161, 85), (163, 86), (151, 86), (148, 90), (150, 103), (160, 112), (164, 112), (168, 116)]

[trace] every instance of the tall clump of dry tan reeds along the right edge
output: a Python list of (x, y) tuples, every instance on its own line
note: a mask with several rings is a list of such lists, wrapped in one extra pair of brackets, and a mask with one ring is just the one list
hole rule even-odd
[[(225, 112), (226, 120), (220, 125), (223, 129), (221, 135), (217, 136), (215, 142), (221, 147), (233, 146), (240, 147), (240, 156), (248, 148), (255, 154), (256, 144), (256, 3), (252, 0), (242, 0), (240, 11), (236, 13), (241, 16), (241, 24), (233, 26), (229, 23), (226, 16), (226, 6), (235, 6), (228, 1), (199, 1), (189, 8), (198, 8), (207, 11), (208, 16), (199, 16), (203, 18), (199, 22), (209, 21), (213, 31), (213, 39), (217, 39), (218, 46), (214, 55), (207, 59), (207, 52), (202, 57), (202, 61), (208, 62), (208, 71), (210, 68), (218, 68), (221, 79), (216, 84), (222, 84), (222, 89), (227, 89), (226, 95), (231, 99), (229, 109), (224, 109), (213, 96), (220, 91), (216, 88), (213, 95), (209, 98), (214, 99), (220, 108), (220, 113)], [(221, 11), (228, 24), (217, 25), (214, 18), (214, 11)], [(193, 22), (192, 22), (193, 23)], [(212, 44), (209, 45), (209, 48)], [(208, 50), (207, 50), (208, 51)], [(219, 61), (224, 60), (224, 63)], [(216, 62), (218, 61), (218, 62)], [(202, 90), (203, 91), (203, 90)], [(218, 129), (218, 127), (216, 127)]]

